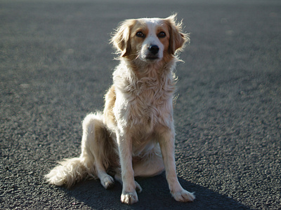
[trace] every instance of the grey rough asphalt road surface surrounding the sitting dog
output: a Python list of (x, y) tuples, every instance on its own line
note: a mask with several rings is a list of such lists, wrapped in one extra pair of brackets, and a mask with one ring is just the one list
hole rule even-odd
[[(117, 65), (110, 33), (126, 18), (183, 18), (176, 165), (192, 203), (164, 174), (139, 202), (98, 181), (44, 181), (78, 156), (81, 120), (103, 109)], [(281, 209), (281, 1), (0, 1), (0, 209)]]

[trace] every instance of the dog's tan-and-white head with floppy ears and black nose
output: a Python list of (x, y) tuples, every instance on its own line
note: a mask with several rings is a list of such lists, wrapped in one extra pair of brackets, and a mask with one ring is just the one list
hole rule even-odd
[(174, 57), (189, 41), (176, 15), (168, 18), (141, 18), (125, 20), (112, 37), (112, 43), (121, 57), (143, 62), (157, 62)]

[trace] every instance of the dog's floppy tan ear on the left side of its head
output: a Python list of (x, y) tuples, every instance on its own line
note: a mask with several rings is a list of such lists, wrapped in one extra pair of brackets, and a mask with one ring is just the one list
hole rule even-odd
[(116, 29), (115, 34), (112, 36), (111, 43), (115, 46), (117, 52), (121, 52), (120, 57), (126, 57), (126, 55), (129, 55), (130, 53), (130, 34), (134, 22), (134, 20), (125, 20), (124, 22), (121, 22)]

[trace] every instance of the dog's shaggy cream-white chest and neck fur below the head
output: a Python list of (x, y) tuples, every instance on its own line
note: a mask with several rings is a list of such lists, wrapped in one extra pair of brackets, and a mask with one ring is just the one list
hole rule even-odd
[(136, 76), (123, 63), (115, 69), (114, 113), (120, 131), (134, 130), (132, 133), (148, 137), (158, 125), (171, 127), (174, 123), (174, 74), (170, 69), (158, 72), (153, 68), (138, 69), (138, 73), (143, 76)]

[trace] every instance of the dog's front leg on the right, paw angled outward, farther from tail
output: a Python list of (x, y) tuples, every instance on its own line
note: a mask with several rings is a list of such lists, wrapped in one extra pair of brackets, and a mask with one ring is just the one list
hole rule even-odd
[(171, 195), (178, 202), (192, 202), (195, 200), (193, 193), (189, 193), (181, 187), (176, 176), (176, 163), (175, 163), (175, 134), (174, 129), (166, 129), (159, 134), (159, 145), (162, 151), (164, 167), (166, 170), (166, 180), (169, 184)]

